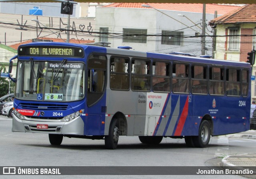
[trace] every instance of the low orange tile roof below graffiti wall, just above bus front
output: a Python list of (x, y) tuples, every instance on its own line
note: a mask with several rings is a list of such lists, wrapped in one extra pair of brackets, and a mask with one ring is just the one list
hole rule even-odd
[[(53, 42), (66, 42), (66, 39), (61, 39), (61, 38), (45, 38), (45, 37), (42, 37), (42, 38), (37, 38), (37, 39), (40, 39), (40, 40), (52, 40)], [(13, 44), (11, 45), (10, 47), (11, 48), (14, 48), (16, 50), (18, 50), (18, 47), (22, 44), (28, 44), (28, 43), (31, 43), (32, 42), (32, 39), (31, 40), (27, 40), (27, 41), (24, 41), (24, 42), (20, 42), (18, 44)], [(88, 44), (88, 43), (94, 43), (94, 40), (77, 40), (77, 39), (70, 39), (69, 40), (70, 43), (73, 43), (73, 44)]]

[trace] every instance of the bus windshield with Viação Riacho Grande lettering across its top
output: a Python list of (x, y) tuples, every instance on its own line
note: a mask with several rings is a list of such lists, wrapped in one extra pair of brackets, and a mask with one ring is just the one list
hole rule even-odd
[(40, 101), (76, 101), (84, 97), (84, 64), (19, 61), (16, 97)]

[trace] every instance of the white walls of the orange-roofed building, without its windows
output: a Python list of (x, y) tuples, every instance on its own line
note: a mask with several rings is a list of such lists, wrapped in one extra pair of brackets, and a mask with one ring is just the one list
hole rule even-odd
[[(123, 28), (138, 28), (147, 29), (147, 34), (159, 34), (162, 30), (180, 31), (185, 36), (195, 36), (196, 32), (202, 33), (202, 30), (195, 26), (202, 20), (202, 13), (192, 12), (179, 12), (160, 10), (158, 12), (154, 9), (145, 8), (96, 8), (96, 31), (99, 31), (100, 27), (108, 27), (110, 33), (123, 33)], [(163, 13), (164, 14), (163, 14)], [(188, 17), (178, 16), (183, 14)], [(214, 18), (214, 14), (206, 14), (206, 19), (211, 20)], [(194, 24), (194, 23), (195, 24)], [(184, 25), (186, 24), (186, 25)], [(207, 24), (207, 22), (206, 22)], [(193, 26), (192, 29), (189, 28)], [(200, 24), (198, 25), (200, 26)], [(211, 30), (210, 27), (208, 27)], [(209, 35), (212, 35), (206, 29)], [(207, 35), (207, 34), (206, 34)], [(184, 38), (182, 39), (181, 46), (162, 45), (161, 37), (147, 37), (147, 43), (124, 43), (122, 37), (108, 38), (111, 43), (111, 47), (118, 46), (131, 46), (134, 50), (149, 51), (149, 52), (163, 52), (168, 53), (172, 51), (189, 52), (190, 54), (201, 54), (201, 38)], [(96, 37), (96, 41), (99, 40)], [(97, 41), (98, 42), (98, 41)], [(206, 37), (206, 54), (212, 55), (212, 38)]]

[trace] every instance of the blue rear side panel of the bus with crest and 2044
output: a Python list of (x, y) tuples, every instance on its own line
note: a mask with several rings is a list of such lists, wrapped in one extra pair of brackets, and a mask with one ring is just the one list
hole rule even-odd
[[(189, 120), (186, 121), (188, 124), (184, 125), (183, 135), (198, 135), (198, 130), (188, 133), (188, 127), (192, 127), (194, 122), (198, 123), (199, 127), (200, 121), (206, 115), (212, 119), (212, 135), (237, 133), (249, 129), (250, 111), (245, 105), (250, 105), (248, 98), (192, 95), (192, 103), (194, 104), (194, 121), (190, 124)], [(230, 110), (230, 108), (233, 110)]]

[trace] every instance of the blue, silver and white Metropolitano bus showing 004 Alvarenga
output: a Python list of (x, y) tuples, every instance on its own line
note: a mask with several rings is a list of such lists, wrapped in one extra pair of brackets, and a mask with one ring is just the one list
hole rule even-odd
[(18, 55), (12, 131), (158, 144), (249, 130), (251, 65), (84, 44), (36, 42)]

